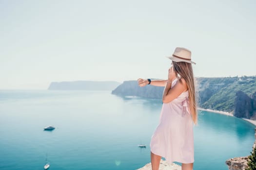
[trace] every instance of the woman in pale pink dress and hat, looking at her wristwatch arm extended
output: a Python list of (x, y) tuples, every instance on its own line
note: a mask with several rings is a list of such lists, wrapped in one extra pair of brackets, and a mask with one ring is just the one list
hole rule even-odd
[(161, 157), (182, 163), (182, 170), (193, 170), (194, 134), (197, 103), (191, 51), (177, 47), (172, 56), (167, 80), (138, 79), (139, 86), (165, 86), (159, 124), (151, 137), (152, 170), (159, 169)]

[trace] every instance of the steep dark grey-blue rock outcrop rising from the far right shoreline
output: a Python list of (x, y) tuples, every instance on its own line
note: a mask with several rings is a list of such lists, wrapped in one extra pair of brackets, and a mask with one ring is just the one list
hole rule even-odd
[(253, 100), (244, 92), (237, 91), (235, 98), (234, 116), (250, 119), (253, 116)]

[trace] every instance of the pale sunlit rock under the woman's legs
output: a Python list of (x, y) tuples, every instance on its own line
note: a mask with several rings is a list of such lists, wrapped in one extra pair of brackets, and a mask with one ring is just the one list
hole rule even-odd
[[(151, 163), (146, 164), (138, 170), (152, 170)], [(168, 163), (165, 160), (160, 160), (159, 170), (181, 170), (181, 166), (175, 163)]]

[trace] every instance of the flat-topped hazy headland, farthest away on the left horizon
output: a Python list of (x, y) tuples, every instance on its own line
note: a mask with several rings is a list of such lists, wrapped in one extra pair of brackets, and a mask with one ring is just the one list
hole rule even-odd
[(118, 85), (115, 81), (52, 82), (48, 90), (113, 90)]

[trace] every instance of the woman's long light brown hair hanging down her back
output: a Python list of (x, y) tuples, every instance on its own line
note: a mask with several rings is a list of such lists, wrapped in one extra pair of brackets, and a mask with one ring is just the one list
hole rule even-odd
[[(188, 92), (189, 92), (189, 109), (191, 112), (191, 116), (193, 119), (193, 122), (197, 124), (197, 100), (196, 100), (196, 88), (195, 88), (195, 80), (194, 80), (194, 74), (192, 69), (192, 64), (187, 62), (173, 62), (173, 68), (176, 72), (176, 77), (178, 78), (178, 81), (181, 82), (180, 78), (184, 78), (185, 82), (188, 86)], [(179, 76), (178, 76), (179, 74)], [(182, 82), (181, 82), (182, 83)]]

